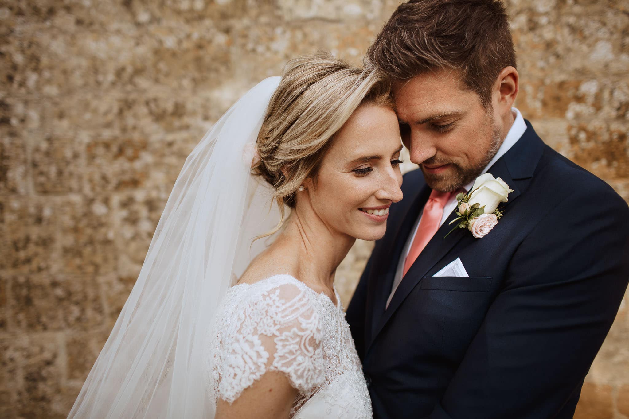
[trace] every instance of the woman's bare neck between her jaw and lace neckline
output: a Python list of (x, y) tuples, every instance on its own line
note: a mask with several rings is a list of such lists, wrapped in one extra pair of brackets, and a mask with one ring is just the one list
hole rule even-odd
[(291, 258), (299, 280), (331, 290), (338, 265), (355, 241), (331, 229), (311, 209), (298, 209), (274, 244)]

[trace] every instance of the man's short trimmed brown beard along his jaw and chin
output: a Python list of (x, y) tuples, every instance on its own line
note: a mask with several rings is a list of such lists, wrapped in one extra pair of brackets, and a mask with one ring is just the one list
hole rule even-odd
[[(489, 164), (491, 159), (494, 158), (496, 153), (498, 153), (498, 149), (503, 143), (502, 134), (500, 129), (497, 126), (493, 126), (492, 134), (491, 134), (491, 143), (489, 144), (489, 150), (485, 153), (484, 157), (481, 161), (479, 161), (476, 165), (473, 166), (461, 166), (454, 161), (447, 161), (439, 156), (434, 156), (425, 160), (421, 163), (420, 168), (424, 174), (424, 179), (426, 183), (431, 189), (436, 189), (441, 192), (454, 192), (459, 188), (463, 188), (468, 183), (472, 182), (472, 180), (479, 177)], [(424, 170), (423, 164), (428, 166), (440, 166), (440, 165), (452, 165), (451, 168), (454, 169), (454, 175), (451, 173), (426, 173)]]

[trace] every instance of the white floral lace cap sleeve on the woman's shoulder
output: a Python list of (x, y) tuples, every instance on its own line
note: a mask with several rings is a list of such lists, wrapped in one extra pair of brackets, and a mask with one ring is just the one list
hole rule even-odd
[(252, 293), (219, 332), (216, 395), (233, 403), (267, 371), (281, 371), (307, 399), (323, 384), (321, 318), (306, 290), (292, 283)]

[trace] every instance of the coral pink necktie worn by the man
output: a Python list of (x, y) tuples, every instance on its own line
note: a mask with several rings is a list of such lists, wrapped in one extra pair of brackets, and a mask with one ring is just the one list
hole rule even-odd
[(408, 256), (406, 256), (402, 276), (406, 275), (406, 272), (413, 262), (415, 262), (417, 256), (420, 256), (426, 244), (435, 236), (443, 217), (443, 207), (454, 193), (455, 192), (439, 192), (438, 190), (433, 190), (433, 192), (430, 193), (430, 198), (428, 198), (424, 212), (421, 214), (420, 226), (417, 227), (415, 239), (413, 239), (411, 249), (408, 252)]

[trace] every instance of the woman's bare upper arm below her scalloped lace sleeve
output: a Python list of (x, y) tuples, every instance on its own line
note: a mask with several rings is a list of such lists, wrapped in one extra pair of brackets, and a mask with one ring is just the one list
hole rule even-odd
[(268, 371), (233, 403), (218, 400), (215, 419), (288, 418), (297, 396), (286, 374)]

